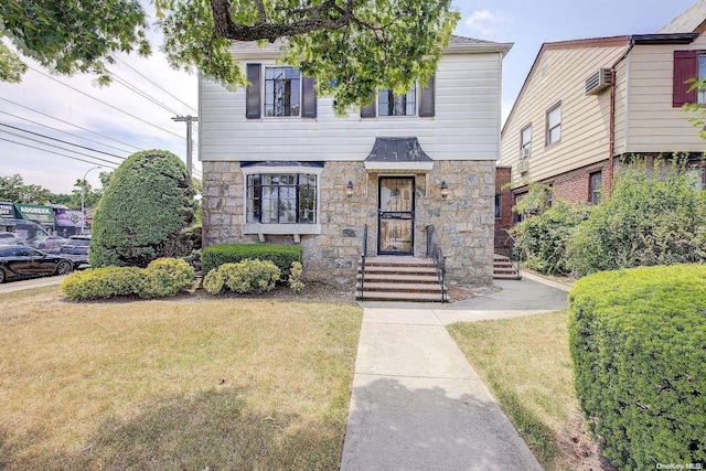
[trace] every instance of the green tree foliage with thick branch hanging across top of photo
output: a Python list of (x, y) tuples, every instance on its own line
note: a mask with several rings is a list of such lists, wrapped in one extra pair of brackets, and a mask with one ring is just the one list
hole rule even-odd
[[(228, 52), (233, 41), (279, 42), (282, 61), (317, 78), (342, 111), (376, 88), (404, 93), (426, 82), (459, 13), (451, 0), (154, 0), (163, 50), (175, 68), (215, 81), (247, 81)], [(7, 0), (0, 30), (20, 54), (60, 73), (109, 77), (116, 52), (150, 53), (138, 0)], [(0, 43), (0, 79), (19, 81), (21, 58)]]

